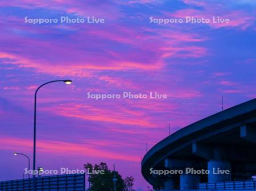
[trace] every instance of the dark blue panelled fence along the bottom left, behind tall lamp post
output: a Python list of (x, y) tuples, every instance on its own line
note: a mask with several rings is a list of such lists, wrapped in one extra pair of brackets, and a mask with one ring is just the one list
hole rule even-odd
[[(33, 191), (33, 178), (0, 182), (1, 191)], [(36, 177), (36, 191), (85, 191), (85, 175), (56, 175)]]

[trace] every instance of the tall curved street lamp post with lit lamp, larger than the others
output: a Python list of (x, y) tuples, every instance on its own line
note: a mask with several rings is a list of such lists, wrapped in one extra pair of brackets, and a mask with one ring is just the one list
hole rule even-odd
[(38, 90), (42, 88), (42, 86), (53, 83), (53, 82), (65, 82), (65, 84), (72, 84), (71, 80), (53, 80), (46, 82), (38, 87), (35, 91), (35, 102), (34, 102), (34, 146), (33, 146), (33, 191), (36, 191), (36, 181), (35, 181), (35, 165), (36, 165), (36, 95)]

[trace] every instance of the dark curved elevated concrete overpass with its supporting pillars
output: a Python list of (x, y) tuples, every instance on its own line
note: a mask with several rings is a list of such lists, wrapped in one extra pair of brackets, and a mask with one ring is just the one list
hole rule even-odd
[[(192, 190), (197, 189), (199, 182), (228, 182), (252, 180), (256, 175), (256, 100), (254, 109), (245, 110), (232, 116), (232, 109), (216, 114), (214, 118), (223, 118), (207, 126), (212, 117), (203, 119), (205, 128), (178, 132), (164, 139), (151, 149), (142, 161), (142, 174), (156, 190)], [(238, 106), (237, 106), (238, 107)], [(241, 107), (241, 105), (240, 105)], [(237, 108), (236, 108), (237, 109)], [(208, 120), (208, 121), (207, 121)], [(192, 124), (194, 128), (196, 123)], [(187, 128), (187, 127), (185, 127)], [(191, 128), (191, 127), (189, 127)], [(192, 128), (191, 128), (192, 129)], [(180, 135), (184, 134), (184, 136)], [(175, 136), (180, 138), (175, 139)], [(168, 144), (168, 139), (170, 143)], [(166, 143), (164, 143), (166, 142)], [(161, 146), (161, 144), (163, 146)], [(208, 169), (208, 174), (150, 174), (150, 168), (174, 170), (187, 168), (194, 170)], [(213, 169), (230, 173), (213, 174)]]

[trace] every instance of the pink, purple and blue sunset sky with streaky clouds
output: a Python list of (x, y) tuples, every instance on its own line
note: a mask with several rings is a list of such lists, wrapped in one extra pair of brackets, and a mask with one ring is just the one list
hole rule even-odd
[[(31, 157), (38, 93), (37, 161), (44, 169), (104, 161), (135, 188), (141, 157), (190, 123), (256, 97), (256, 2), (196, 0), (0, 1), (0, 181), (22, 178)], [(25, 23), (94, 18), (104, 23)], [(151, 23), (209, 18), (229, 23)], [(167, 99), (88, 99), (87, 93), (158, 92)]]

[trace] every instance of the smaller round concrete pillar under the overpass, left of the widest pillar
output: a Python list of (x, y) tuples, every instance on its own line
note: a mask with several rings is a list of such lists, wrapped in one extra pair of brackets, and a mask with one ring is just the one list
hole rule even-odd
[(197, 175), (180, 175), (180, 190), (195, 190), (197, 182)]

